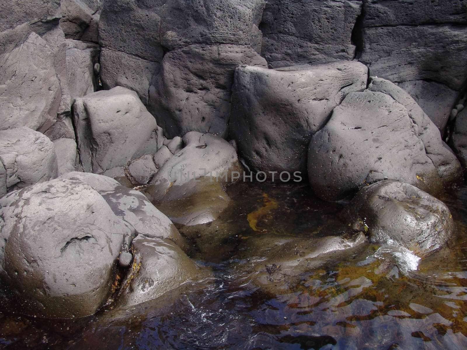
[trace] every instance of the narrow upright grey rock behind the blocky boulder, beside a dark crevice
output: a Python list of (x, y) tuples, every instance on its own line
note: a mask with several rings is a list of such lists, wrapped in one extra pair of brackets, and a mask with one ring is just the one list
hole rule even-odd
[(99, 45), (68, 39), (66, 69), (71, 98), (88, 95), (97, 90), (94, 65), (99, 63)]

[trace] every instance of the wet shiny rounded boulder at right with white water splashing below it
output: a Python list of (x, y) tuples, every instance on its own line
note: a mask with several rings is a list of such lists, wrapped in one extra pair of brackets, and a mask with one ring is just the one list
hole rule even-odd
[(453, 234), (453, 217), (446, 205), (403, 182), (366, 186), (348, 208), (354, 229), (366, 231), (373, 243), (396, 243), (419, 256), (446, 245)]

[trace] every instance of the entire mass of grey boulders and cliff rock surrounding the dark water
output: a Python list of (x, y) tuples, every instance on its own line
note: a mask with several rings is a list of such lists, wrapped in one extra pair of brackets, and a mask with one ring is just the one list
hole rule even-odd
[(260, 173), (347, 205), (336, 232), (255, 240), (253, 256), (270, 245), (249, 266), (266, 291), (369, 243), (423, 259), (453, 236), (438, 198), (467, 165), (462, 1), (0, 0), (0, 13), (3, 309), (77, 318), (205, 278), (180, 231), (215, 222), (227, 187)]

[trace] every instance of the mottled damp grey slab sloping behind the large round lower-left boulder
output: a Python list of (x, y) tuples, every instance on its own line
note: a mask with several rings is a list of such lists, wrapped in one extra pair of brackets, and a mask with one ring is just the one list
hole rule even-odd
[(103, 175), (71, 172), (62, 175), (61, 178), (85, 182), (95, 189), (105, 199), (113, 213), (130, 227), (133, 236), (170, 239), (181, 249), (188, 248), (186, 241), (170, 219), (141, 192), (121, 186), (119, 182)]

